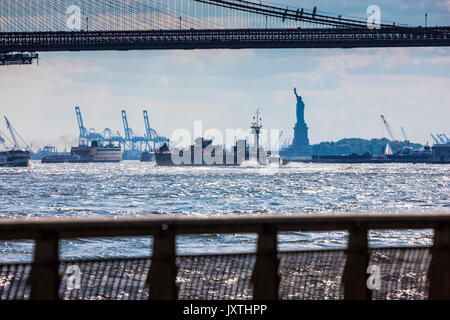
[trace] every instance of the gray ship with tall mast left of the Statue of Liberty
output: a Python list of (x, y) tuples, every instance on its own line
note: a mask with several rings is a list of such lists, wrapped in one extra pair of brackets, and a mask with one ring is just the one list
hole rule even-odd
[(253, 117), (251, 128), (255, 133), (255, 146), (250, 148), (246, 140), (238, 140), (230, 151), (222, 146), (214, 145), (212, 139), (197, 138), (188, 150), (170, 150), (165, 143), (155, 152), (158, 166), (239, 166), (245, 161), (257, 160), (260, 165), (273, 163), (270, 151), (259, 148), (259, 136), (262, 128), (259, 110)]

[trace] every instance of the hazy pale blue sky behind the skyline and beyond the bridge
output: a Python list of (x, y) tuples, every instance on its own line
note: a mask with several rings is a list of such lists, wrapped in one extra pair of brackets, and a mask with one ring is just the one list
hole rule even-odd
[[(428, 12), (429, 25), (450, 21), (449, 0), (272, 2), (358, 16), (378, 4), (386, 20), (419, 25)], [(311, 143), (380, 137), (380, 114), (398, 138), (400, 126), (421, 143), (450, 131), (450, 48), (42, 53), (39, 66), (0, 67), (0, 114), (34, 147), (75, 144), (76, 105), (86, 127), (122, 134), (120, 111), (143, 134), (147, 109), (166, 136), (192, 130), (195, 120), (205, 129), (246, 129), (260, 108), (265, 127), (288, 138), (294, 87)]]

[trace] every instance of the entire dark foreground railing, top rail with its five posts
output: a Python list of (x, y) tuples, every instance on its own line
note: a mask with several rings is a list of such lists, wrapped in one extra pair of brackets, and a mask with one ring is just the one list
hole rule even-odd
[[(283, 231), (349, 232), (343, 273), (344, 299), (370, 299), (367, 288), (369, 230), (432, 229), (428, 271), (430, 299), (450, 299), (450, 212), (409, 214), (341, 214), (295, 216), (149, 217), (108, 219), (0, 220), (1, 240), (35, 240), (30, 275), (31, 299), (58, 299), (59, 241), (74, 238), (152, 236), (148, 275), (150, 299), (177, 298), (176, 236), (257, 233), (253, 298), (277, 299), (277, 233)], [(1, 263), (1, 257), (0, 257)], [(1, 297), (0, 297), (1, 298)]]

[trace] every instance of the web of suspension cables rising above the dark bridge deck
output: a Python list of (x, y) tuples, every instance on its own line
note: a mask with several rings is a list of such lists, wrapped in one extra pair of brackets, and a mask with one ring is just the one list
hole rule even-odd
[[(67, 22), (76, 14), (80, 30), (71, 30)], [(0, 0), (0, 32), (313, 27), (366, 28), (367, 22), (247, 0)]]

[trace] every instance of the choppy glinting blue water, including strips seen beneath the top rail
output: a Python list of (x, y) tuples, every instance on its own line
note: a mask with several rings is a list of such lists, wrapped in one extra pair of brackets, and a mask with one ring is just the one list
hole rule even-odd
[[(280, 169), (161, 168), (151, 163), (41, 164), (0, 168), (0, 219), (442, 211), (450, 167), (422, 164), (296, 164)], [(374, 245), (430, 242), (429, 230), (372, 232)], [(180, 253), (247, 252), (255, 235), (180, 237)], [(282, 249), (345, 245), (344, 233), (284, 233)], [(64, 242), (66, 258), (143, 256), (150, 239)], [(30, 258), (30, 242), (0, 243), (0, 261)]]

